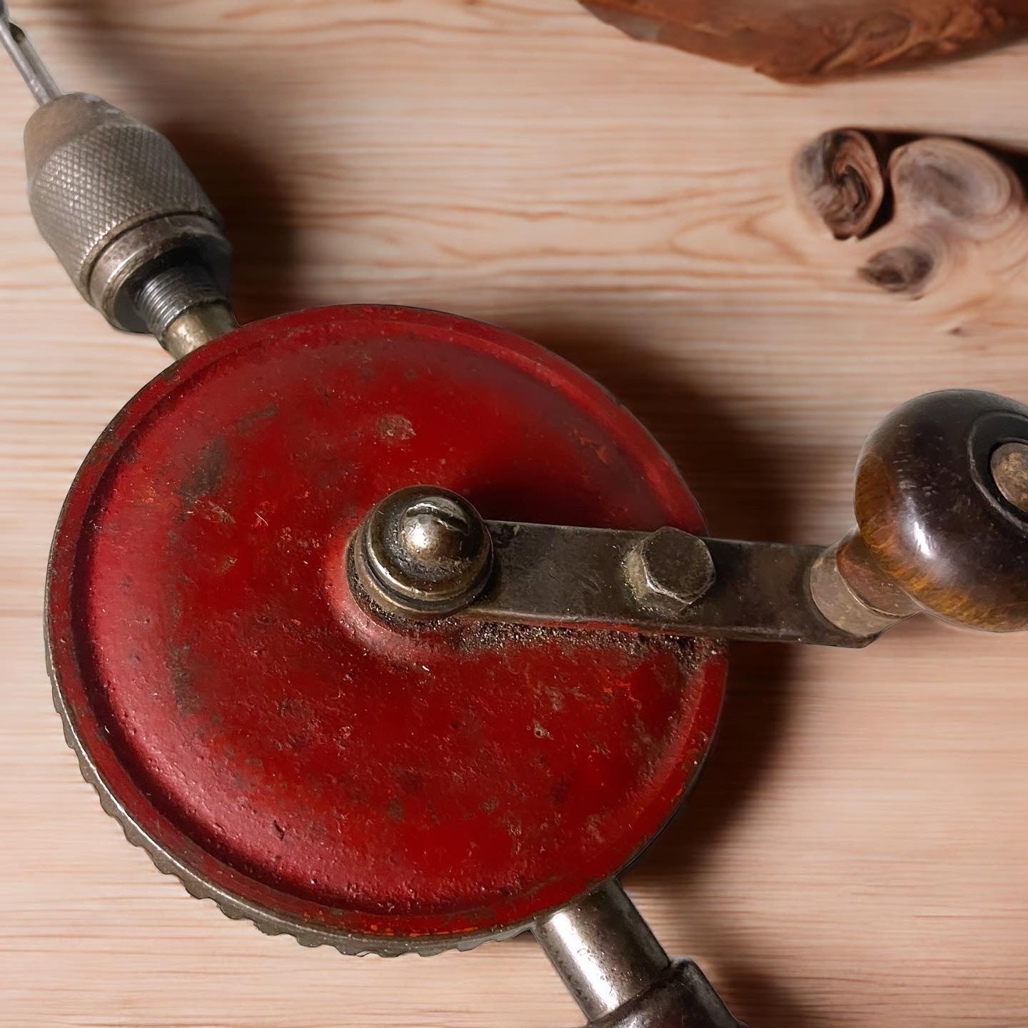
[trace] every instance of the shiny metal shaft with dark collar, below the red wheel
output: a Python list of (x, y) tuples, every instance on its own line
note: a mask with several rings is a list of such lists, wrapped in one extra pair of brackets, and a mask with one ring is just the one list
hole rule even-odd
[(589, 1028), (745, 1028), (692, 960), (671, 960), (609, 881), (533, 926)]

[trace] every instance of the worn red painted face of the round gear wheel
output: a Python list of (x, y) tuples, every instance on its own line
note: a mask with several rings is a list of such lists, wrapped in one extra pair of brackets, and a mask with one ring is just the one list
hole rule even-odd
[(358, 934), (500, 929), (605, 879), (674, 810), (724, 691), (709, 642), (370, 619), (346, 539), (418, 482), (492, 518), (701, 527), (639, 424), (553, 355), (332, 307), (146, 386), (50, 571), (59, 687), (135, 820), (244, 900)]

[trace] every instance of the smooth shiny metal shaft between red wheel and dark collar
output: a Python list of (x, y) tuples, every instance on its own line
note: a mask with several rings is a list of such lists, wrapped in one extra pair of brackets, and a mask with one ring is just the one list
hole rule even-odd
[(533, 932), (590, 1021), (613, 1014), (645, 992), (670, 962), (625, 890), (613, 880), (539, 921)]

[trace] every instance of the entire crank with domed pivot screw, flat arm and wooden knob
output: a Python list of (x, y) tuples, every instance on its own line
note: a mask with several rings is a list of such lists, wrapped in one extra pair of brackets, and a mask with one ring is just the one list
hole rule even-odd
[(1028, 627), (1028, 407), (931, 393), (869, 437), (834, 546), (483, 521), (455, 493), (388, 497), (351, 547), (390, 615), (861, 647), (914, 614)]

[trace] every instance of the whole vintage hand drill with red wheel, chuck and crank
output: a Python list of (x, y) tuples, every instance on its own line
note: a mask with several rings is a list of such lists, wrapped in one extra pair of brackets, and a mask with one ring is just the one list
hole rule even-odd
[[(48, 571), (54, 701), (105, 809), (264, 931), (430, 955), (527, 929), (595, 1028), (737, 1028), (618, 884), (702, 765), (722, 640), (1028, 627), (1028, 408), (902, 406), (833, 546), (707, 538), (645, 429), (527, 340), (399, 307), (237, 327), (172, 144), (62, 93), (5, 4), (0, 39), (39, 104), (40, 232), (181, 359), (82, 465)], [(529, 516), (473, 506), (512, 497)]]

